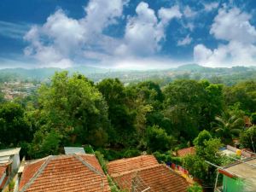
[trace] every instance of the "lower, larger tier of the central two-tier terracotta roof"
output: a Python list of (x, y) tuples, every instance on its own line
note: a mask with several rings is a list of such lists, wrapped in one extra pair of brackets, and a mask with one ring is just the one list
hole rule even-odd
[(173, 172), (165, 165), (149, 166), (137, 171), (113, 175), (114, 182), (119, 189), (131, 191), (132, 186), (136, 191), (151, 192), (186, 192), (189, 187), (187, 181)]

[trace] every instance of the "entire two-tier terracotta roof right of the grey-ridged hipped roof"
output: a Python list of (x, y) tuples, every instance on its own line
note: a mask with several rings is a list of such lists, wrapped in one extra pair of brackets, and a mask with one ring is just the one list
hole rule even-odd
[[(108, 173), (120, 189), (155, 192), (187, 191), (189, 183), (165, 165), (159, 164), (153, 155), (113, 160), (108, 163)], [(133, 187), (132, 187), (133, 186)]]

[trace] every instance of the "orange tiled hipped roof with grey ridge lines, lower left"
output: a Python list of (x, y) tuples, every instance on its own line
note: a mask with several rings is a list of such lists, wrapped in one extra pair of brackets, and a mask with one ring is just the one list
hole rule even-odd
[(110, 191), (102, 167), (92, 154), (48, 156), (28, 162), (19, 191)]

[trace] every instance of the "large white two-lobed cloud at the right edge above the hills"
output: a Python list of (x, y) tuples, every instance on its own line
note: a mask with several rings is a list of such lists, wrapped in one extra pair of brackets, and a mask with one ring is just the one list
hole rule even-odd
[(210, 33), (224, 40), (216, 49), (203, 44), (194, 48), (196, 62), (207, 66), (253, 65), (256, 59), (256, 30), (250, 23), (251, 15), (238, 8), (226, 7), (218, 10)]

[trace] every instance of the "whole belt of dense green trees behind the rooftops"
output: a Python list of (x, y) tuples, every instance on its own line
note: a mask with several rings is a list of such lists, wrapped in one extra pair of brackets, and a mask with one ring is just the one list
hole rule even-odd
[[(63, 146), (90, 144), (108, 160), (141, 151), (166, 153), (189, 147), (201, 131), (231, 144), (240, 138), (254, 150), (256, 82), (230, 87), (180, 79), (125, 86), (98, 84), (79, 73), (55, 73), (37, 93), (0, 108), (0, 147), (21, 146), (27, 158), (61, 153)], [(245, 121), (245, 119), (247, 119)]]

